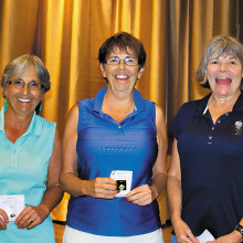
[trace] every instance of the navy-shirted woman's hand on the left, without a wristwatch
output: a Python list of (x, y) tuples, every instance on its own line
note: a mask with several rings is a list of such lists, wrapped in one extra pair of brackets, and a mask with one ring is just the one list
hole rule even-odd
[(199, 243), (199, 240), (194, 237), (188, 224), (181, 219), (173, 222), (173, 229), (178, 243)]

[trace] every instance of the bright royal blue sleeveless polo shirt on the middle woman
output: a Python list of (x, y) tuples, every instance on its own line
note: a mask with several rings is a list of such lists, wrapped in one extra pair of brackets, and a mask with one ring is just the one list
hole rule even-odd
[[(107, 87), (95, 98), (78, 103), (78, 177), (92, 180), (110, 177), (113, 170), (129, 170), (133, 171), (131, 190), (141, 184), (150, 186), (158, 154), (155, 104), (144, 99), (135, 89), (135, 110), (117, 123), (102, 112), (106, 91)], [(150, 233), (160, 228), (158, 203), (155, 200), (140, 207), (125, 201), (125, 198), (71, 197), (67, 225), (106, 236)]]

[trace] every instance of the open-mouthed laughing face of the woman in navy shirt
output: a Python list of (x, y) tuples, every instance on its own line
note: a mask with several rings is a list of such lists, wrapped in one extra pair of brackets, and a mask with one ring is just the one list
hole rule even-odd
[(240, 93), (242, 64), (232, 54), (213, 55), (208, 64), (207, 76), (215, 97), (233, 97)]

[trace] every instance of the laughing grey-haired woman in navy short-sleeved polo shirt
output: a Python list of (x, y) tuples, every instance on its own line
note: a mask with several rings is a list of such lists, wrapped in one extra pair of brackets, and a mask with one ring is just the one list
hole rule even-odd
[(196, 77), (211, 93), (183, 104), (171, 124), (171, 243), (198, 243), (198, 236), (203, 242), (242, 242), (242, 44), (231, 36), (213, 38)]

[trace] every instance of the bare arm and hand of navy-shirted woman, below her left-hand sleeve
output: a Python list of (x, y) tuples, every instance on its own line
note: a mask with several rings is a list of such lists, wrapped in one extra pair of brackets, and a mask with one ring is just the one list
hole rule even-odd
[(171, 222), (176, 232), (177, 241), (198, 243), (191, 230), (181, 219), (181, 169), (177, 149), (177, 139), (173, 140), (171, 163), (168, 171), (167, 194), (170, 207)]

